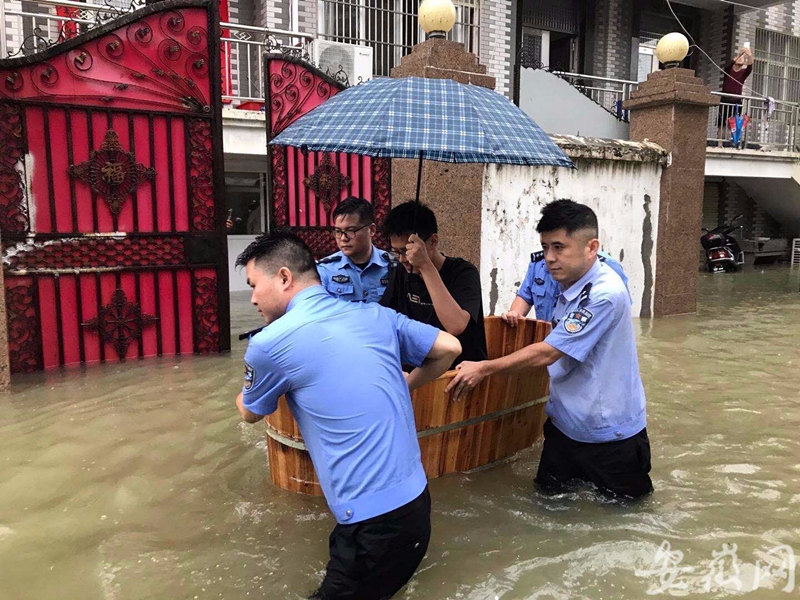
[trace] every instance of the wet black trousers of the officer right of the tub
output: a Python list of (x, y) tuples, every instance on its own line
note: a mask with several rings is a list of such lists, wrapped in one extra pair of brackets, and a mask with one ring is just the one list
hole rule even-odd
[(544, 447), (536, 484), (545, 493), (563, 491), (571, 481), (588, 481), (601, 493), (639, 498), (653, 491), (647, 428), (624, 440), (592, 444), (564, 435), (550, 419), (544, 423)]

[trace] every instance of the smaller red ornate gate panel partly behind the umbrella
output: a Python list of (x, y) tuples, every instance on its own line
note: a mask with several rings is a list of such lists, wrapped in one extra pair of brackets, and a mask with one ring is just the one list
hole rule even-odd
[[(336, 79), (297, 58), (267, 58), (267, 139), (345, 89)], [(340, 152), (301, 152), (270, 146), (270, 197), (273, 223), (289, 226), (317, 257), (336, 250), (330, 211), (347, 196), (373, 203), (382, 223), (391, 205), (391, 161)], [(381, 238), (382, 239), (382, 238)], [(386, 247), (385, 241), (379, 245)]]

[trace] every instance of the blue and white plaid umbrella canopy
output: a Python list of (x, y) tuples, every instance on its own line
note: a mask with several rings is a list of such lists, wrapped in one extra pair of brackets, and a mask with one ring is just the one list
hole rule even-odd
[(270, 144), (456, 163), (573, 167), (505, 96), (450, 79), (376, 78), (348, 88)]

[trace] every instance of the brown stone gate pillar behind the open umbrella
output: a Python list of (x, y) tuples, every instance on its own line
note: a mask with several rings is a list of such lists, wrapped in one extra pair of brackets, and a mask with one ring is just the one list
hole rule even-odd
[[(464, 46), (445, 39), (417, 44), (391, 77), (453, 79), (494, 89), (495, 79)], [(392, 160), (392, 205), (413, 200), (416, 194), (418, 160)], [(431, 207), (439, 221), (441, 249), (479, 266), (481, 260), (481, 200), (483, 165), (426, 160), (422, 166), (420, 200)]]

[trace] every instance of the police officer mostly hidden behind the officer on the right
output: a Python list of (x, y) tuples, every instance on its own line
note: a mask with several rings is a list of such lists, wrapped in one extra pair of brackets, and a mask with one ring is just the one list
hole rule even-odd
[[(625, 275), (622, 265), (614, 260), (610, 254), (598, 250), (597, 260), (605, 262), (614, 269), (617, 275), (622, 278), (625, 287), (628, 287), (628, 276)], [(517, 324), (517, 319), (524, 318), (530, 312), (531, 307), (535, 307), (537, 319), (551, 321), (560, 293), (558, 283), (550, 275), (550, 271), (547, 270), (544, 252), (541, 250), (533, 252), (531, 253), (531, 264), (528, 266), (528, 272), (525, 274), (522, 285), (519, 286), (517, 295), (511, 303), (511, 308), (500, 315), (500, 318), (514, 327)], [(630, 296), (630, 291), (628, 295)]]

